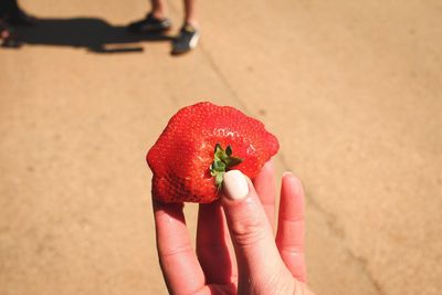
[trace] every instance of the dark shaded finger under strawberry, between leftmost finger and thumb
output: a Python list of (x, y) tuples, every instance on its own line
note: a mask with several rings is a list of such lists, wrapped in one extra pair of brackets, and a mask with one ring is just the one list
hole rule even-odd
[[(198, 211), (197, 254), (207, 284), (228, 284), (236, 276), (234, 255), (229, 250), (229, 232), (219, 201), (200, 204)], [(235, 265), (234, 265), (235, 266)]]

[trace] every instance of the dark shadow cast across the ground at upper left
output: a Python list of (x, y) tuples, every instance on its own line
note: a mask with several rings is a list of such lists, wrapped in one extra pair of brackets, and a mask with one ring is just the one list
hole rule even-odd
[(95, 53), (143, 52), (143, 46), (136, 43), (172, 40), (164, 34), (135, 34), (126, 27), (112, 25), (97, 18), (39, 19), (35, 25), (15, 28), (14, 34), (18, 41), (6, 48), (72, 46)]

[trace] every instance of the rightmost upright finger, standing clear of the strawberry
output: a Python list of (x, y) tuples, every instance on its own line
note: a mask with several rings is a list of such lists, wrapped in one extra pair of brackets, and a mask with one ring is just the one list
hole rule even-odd
[(304, 202), (304, 191), (299, 179), (292, 173), (284, 173), (276, 245), (292, 275), (305, 283)]

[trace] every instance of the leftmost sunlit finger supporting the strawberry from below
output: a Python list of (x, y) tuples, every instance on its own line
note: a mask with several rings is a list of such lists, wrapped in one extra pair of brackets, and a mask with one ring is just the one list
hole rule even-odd
[(191, 247), (182, 204), (152, 200), (157, 249), (170, 294), (192, 294), (204, 286), (204, 275)]

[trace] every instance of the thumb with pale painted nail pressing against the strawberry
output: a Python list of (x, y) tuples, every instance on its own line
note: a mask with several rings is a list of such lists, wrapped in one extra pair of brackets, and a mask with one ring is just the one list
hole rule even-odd
[(252, 182), (239, 170), (224, 173), (224, 209), (241, 275), (259, 280), (277, 273), (283, 262)]

